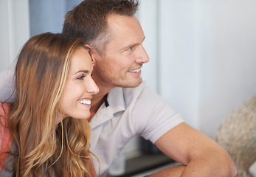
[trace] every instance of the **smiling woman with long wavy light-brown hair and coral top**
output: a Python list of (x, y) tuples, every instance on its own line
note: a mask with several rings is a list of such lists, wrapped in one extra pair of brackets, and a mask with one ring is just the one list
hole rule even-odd
[(0, 176), (96, 176), (86, 120), (99, 91), (92, 70), (80, 38), (44, 33), (24, 44), (15, 101), (0, 106)]

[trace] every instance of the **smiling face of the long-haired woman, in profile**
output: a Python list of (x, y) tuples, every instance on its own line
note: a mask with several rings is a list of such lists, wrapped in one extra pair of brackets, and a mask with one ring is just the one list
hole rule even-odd
[(77, 48), (72, 57), (69, 74), (60, 97), (62, 119), (88, 119), (90, 116), (91, 98), (99, 88), (91, 78), (93, 65), (91, 57), (83, 47)]

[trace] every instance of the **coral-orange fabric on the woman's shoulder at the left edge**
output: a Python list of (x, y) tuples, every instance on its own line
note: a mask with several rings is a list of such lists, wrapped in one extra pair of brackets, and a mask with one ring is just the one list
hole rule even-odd
[(8, 117), (10, 114), (10, 104), (0, 103), (0, 170), (10, 151), (13, 142), (12, 133), (8, 128)]

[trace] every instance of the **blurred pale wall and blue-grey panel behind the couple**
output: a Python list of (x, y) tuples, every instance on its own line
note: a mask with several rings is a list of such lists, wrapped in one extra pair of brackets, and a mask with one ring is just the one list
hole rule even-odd
[[(136, 13), (150, 62), (142, 78), (210, 138), (256, 93), (255, 0), (140, 0)], [(41, 32), (61, 32), (80, 0), (1, 0), (0, 72)], [(139, 150), (139, 138), (125, 152)]]

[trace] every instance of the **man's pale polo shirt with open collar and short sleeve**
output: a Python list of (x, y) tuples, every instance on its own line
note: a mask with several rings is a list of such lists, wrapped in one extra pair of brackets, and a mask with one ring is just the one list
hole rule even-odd
[[(180, 115), (145, 82), (136, 88), (112, 89), (90, 121), (90, 150), (100, 160), (100, 176), (106, 176), (108, 167), (135, 135), (155, 143), (181, 122)], [(97, 171), (99, 164), (93, 159)]]

